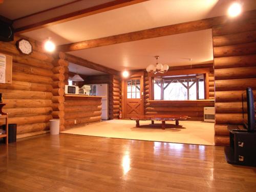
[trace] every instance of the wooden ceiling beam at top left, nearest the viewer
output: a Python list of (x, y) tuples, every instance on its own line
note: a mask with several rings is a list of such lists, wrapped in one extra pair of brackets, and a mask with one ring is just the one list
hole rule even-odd
[(48, 26), (68, 22), (70, 20), (78, 19), (78, 18), (81, 18), (81, 17), (94, 15), (94, 14), (97, 14), (97, 13), (102, 13), (102, 12), (105, 12), (105, 11), (118, 9), (118, 8), (129, 6), (129, 5), (134, 5), (134, 4), (145, 2), (145, 1), (148, 1), (148, 0), (115, 0), (115, 1), (111, 1), (111, 2), (108, 2), (108, 3), (101, 4), (101, 5), (97, 5), (97, 6), (94, 6), (94, 7), (90, 7), (90, 8), (87, 8), (87, 9), (83, 9), (83, 10), (75, 11), (75, 12), (68, 13), (68, 14), (65, 14), (65, 15), (57, 16), (57, 17), (54, 17), (54, 18), (51, 18), (51, 19), (47, 19), (47, 20), (44, 20), (42, 22), (38, 22), (36, 24), (31, 24), (31, 25), (27, 25), (27, 26), (24, 26), (24, 27), (20, 27), (20, 28), (15, 29), (15, 32), (16, 33), (25, 33), (25, 32), (28, 32), (28, 31), (41, 29), (41, 28), (44, 28), (44, 27), (48, 27)]

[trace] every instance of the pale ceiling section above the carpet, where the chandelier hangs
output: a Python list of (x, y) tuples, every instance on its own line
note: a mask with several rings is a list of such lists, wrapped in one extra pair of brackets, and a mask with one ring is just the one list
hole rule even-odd
[(211, 29), (69, 52), (118, 71), (145, 69), (155, 55), (170, 67), (209, 63), (212, 53)]

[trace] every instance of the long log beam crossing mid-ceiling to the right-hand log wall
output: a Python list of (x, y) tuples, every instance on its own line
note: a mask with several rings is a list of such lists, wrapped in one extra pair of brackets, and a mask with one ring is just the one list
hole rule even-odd
[(164, 27), (157, 27), (152, 29), (146, 29), (141, 31), (135, 31), (130, 33), (124, 33), (109, 37), (102, 37), (91, 40), (84, 40), (66, 45), (60, 45), (57, 50), (68, 52), (77, 51), (95, 47), (109, 46), (114, 44), (120, 44), (122, 42), (130, 42), (136, 40), (143, 40), (148, 38), (162, 37), (167, 35), (174, 35), (180, 33), (187, 33), (205, 29), (211, 29), (213, 26), (223, 25), (227, 22), (233, 22), (234, 20), (253, 18), (256, 17), (256, 10), (245, 12), (239, 18), (229, 19), (227, 16), (219, 16), (196, 20), (193, 22), (186, 22), (181, 24), (169, 25)]

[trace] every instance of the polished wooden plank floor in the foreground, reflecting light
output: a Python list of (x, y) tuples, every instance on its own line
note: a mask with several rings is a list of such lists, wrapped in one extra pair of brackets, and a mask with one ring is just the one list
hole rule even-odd
[(256, 191), (223, 147), (42, 135), (0, 145), (0, 191)]

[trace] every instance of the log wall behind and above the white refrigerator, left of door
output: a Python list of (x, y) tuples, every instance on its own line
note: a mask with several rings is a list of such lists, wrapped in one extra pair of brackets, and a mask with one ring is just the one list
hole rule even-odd
[(84, 84), (109, 84), (109, 118), (117, 119), (121, 110), (121, 83), (117, 75), (87, 76)]

